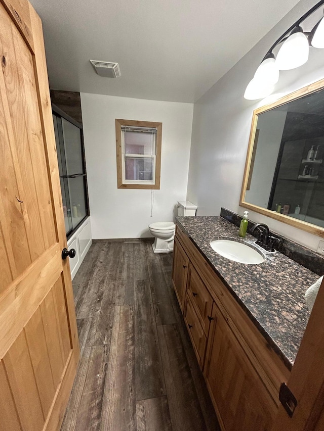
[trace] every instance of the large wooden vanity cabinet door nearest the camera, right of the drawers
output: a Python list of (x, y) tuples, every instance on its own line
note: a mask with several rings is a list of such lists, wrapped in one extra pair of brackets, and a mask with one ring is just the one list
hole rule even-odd
[(222, 428), (270, 430), (274, 401), (215, 304), (213, 317), (204, 374)]

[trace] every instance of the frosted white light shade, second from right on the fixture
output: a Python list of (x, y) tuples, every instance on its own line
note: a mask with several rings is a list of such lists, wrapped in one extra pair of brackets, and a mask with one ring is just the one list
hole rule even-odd
[(282, 43), (275, 59), (275, 64), (279, 70), (295, 69), (307, 62), (308, 53), (307, 37), (302, 31), (298, 30)]

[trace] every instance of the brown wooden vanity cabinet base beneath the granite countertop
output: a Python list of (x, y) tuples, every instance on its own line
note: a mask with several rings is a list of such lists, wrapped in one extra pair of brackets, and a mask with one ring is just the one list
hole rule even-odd
[(222, 429), (270, 429), (290, 370), (178, 225), (172, 279)]

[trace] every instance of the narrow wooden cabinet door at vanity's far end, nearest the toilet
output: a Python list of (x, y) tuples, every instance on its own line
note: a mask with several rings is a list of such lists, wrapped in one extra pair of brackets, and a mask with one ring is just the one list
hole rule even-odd
[(173, 248), (173, 270), (172, 282), (174, 290), (178, 297), (181, 311), (183, 312), (184, 298), (186, 293), (187, 275), (188, 275), (189, 259), (185, 251), (181, 247), (177, 237), (174, 240)]

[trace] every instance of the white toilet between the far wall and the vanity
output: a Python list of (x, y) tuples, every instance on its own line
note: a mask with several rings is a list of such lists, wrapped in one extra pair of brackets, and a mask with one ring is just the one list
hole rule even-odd
[[(178, 202), (178, 216), (194, 216), (197, 207), (189, 201)], [(158, 221), (148, 226), (151, 234), (155, 237), (152, 244), (154, 253), (173, 252), (174, 235), (176, 225), (173, 221)]]

